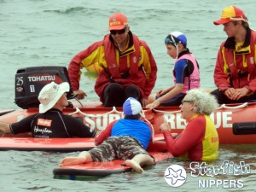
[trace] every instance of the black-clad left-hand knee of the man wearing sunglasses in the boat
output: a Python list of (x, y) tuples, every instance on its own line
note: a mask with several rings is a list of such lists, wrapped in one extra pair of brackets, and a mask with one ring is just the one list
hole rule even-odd
[(103, 92), (105, 108), (122, 107), (125, 102), (124, 88), (117, 83), (110, 83)]

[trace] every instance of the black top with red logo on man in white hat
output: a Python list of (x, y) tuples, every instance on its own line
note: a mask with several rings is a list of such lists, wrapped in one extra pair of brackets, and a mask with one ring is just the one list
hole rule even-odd
[(96, 135), (96, 130), (90, 131), (82, 121), (63, 114), (58, 109), (32, 114), (10, 124), (10, 130), (13, 134), (32, 132), (32, 137), (38, 138), (95, 137)]

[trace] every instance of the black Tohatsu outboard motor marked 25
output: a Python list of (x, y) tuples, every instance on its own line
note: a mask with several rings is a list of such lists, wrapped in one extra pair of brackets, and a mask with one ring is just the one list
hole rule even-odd
[[(38, 95), (45, 84), (54, 81), (56, 84), (70, 84), (67, 67), (44, 66), (20, 68), (15, 74), (15, 103), (20, 108), (38, 108)], [(73, 98), (69, 90), (67, 99)]]

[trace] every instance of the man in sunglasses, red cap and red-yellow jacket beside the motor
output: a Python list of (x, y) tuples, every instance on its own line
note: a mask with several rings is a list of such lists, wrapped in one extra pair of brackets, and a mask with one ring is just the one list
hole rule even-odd
[(95, 91), (104, 107), (122, 107), (134, 97), (145, 107), (154, 88), (157, 66), (148, 44), (131, 33), (121, 13), (109, 17), (109, 34), (75, 55), (68, 67), (69, 79), (77, 98), (87, 96), (79, 90), (81, 68), (97, 63), (102, 67)]

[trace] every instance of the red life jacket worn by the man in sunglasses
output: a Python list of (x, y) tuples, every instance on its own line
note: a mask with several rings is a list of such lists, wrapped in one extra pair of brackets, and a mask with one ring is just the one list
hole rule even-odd
[(137, 85), (137, 88), (143, 96), (143, 89), (147, 79), (143, 71), (143, 65), (140, 67), (140, 45), (143, 45), (136, 35), (129, 34), (131, 46), (124, 53), (117, 53), (118, 50), (110, 41), (109, 34), (103, 39), (104, 58), (108, 67), (103, 67), (102, 72), (96, 79), (95, 90), (103, 102), (103, 90), (109, 83), (118, 83), (123, 87), (128, 85)]

